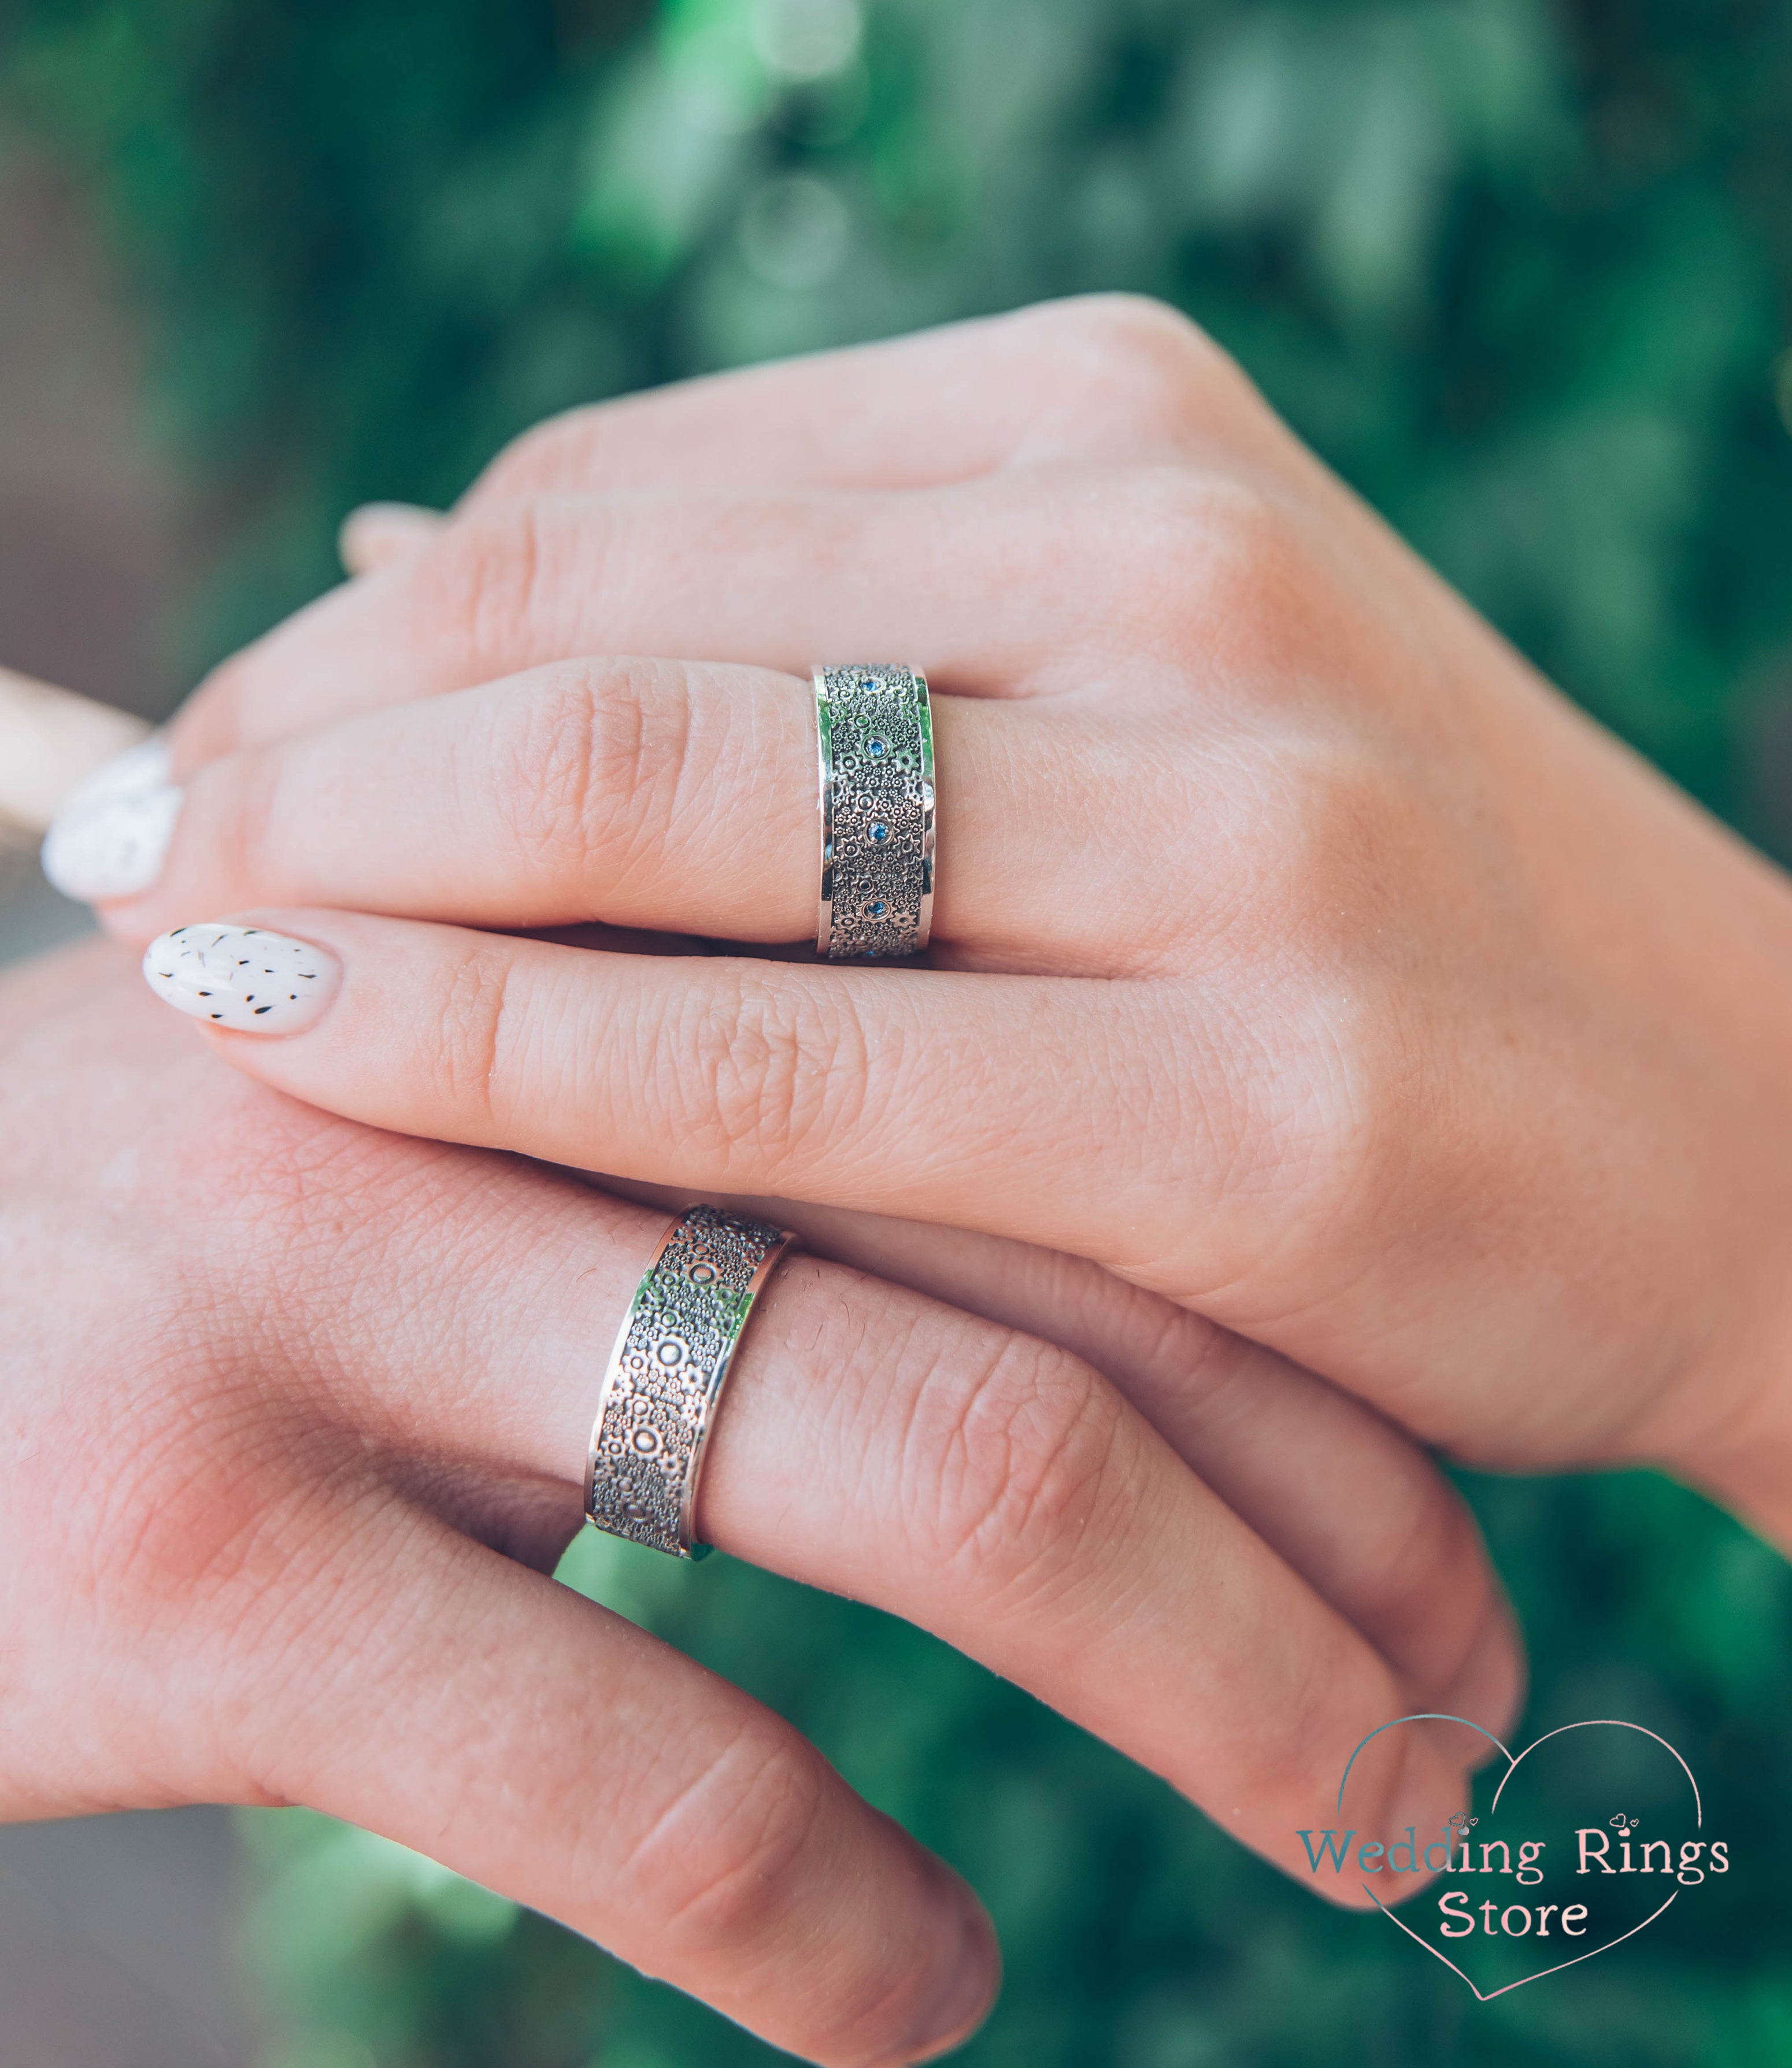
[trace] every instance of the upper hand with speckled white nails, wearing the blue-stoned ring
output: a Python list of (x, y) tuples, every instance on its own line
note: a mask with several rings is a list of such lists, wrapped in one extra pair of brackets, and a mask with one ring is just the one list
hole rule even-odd
[[(585, 412), (360, 550), (182, 720), (165, 873), (112, 910), (339, 962), (236, 1067), (1075, 1251), (1465, 1458), (1658, 1460), (1792, 1534), (1786, 883), (1178, 318)], [(678, 660), (579, 658), (616, 653)], [(945, 691), (932, 970), (465, 931), (808, 935), (810, 658)]]

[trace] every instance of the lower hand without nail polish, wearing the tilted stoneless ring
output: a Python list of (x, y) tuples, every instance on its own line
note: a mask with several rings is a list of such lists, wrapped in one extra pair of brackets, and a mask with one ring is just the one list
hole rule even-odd
[[(0, 1820), (304, 1801), (814, 2060), (963, 2035), (996, 1965), (963, 1884), (544, 1578), (663, 1220), (252, 1086), (107, 945), (0, 980)], [(938, 1630), (1284, 1865), (1339, 1741), (1501, 1727), (1509, 1632), (1410, 1443), (1093, 1270), (976, 1261), (1145, 1406), (1186, 1371), (1172, 1439), (1033, 1334), (798, 1255), (717, 1410), (707, 1541)], [(1362, 1822), (1451, 1810), (1467, 1737), (1393, 1752)]]

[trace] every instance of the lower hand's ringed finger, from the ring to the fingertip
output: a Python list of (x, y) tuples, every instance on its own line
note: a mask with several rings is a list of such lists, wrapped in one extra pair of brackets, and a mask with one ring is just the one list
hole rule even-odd
[[(1298, 1828), (1410, 1683), (1093, 1367), (806, 1257), (754, 1328), (711, 1541), (922, 1623), (1302, 1869)], [(1461, 1731), (1391, 1752), (1368, 1828), (1441, 1824), (1478, 1758)]]

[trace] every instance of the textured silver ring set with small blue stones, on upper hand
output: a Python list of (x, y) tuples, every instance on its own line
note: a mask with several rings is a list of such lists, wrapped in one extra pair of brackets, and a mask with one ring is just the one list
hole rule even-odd
[(914, 955), (934, 922), (934, 720), (920, 668), (816, 668), (816, 949)]

